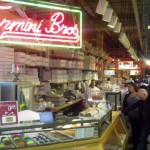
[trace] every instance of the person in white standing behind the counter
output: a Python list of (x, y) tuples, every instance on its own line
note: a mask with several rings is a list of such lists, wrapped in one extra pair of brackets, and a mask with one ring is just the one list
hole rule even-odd
[(93, 106), (94, 101), (92, 95), (96, 92), (100, 92), (100, 89), (96, 87), (96, 81), (92, 79), (90, 86), (85, 90), (85, 108)]

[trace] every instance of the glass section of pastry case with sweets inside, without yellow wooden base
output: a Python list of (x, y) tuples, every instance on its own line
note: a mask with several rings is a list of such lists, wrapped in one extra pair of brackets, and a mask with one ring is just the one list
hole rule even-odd
[(0, 127), (0, 149), (29, 148), (98, 139), (109, 126), (112, 111), (101, 119), (64, 117), (51, 123), (24, 122)]

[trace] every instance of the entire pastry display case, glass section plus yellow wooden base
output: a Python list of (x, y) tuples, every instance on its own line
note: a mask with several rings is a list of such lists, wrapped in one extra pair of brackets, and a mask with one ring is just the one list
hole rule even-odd
[(0, 149), (124, 150), (128, 139), (120, 112), (111, 110), (101, 119), (64, 117), (1, 126), (0, 132)]

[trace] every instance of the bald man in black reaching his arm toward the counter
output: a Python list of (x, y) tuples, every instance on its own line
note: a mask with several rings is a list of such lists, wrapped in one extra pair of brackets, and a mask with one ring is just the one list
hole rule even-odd
[[(138, 150), (147, 150), (147, 138), (150, 134), (150, 96), (145, 89), (139, 89), (138, 96), (140, 100), (127, 109), (122, 110), (122, 112), (127, 113), (138, 107), (140, 124), (137, 126), (141, 130)], [(137, 148), (133, 150), (137, 150)]]

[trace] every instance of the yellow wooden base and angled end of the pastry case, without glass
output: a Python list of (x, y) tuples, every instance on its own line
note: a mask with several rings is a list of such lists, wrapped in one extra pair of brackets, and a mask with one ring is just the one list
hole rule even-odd
[(125, 150), (128, 135), (122, 122), (119, 111), (112, 112), (112, 122), (102, 133), (100, 138), (88, 140), (76, 140), (72, 142), (57, 143), (44, 146), (20, 148), (21, 150), (106, 150), (109, 147)]

